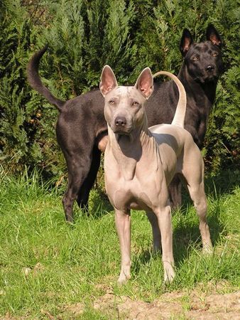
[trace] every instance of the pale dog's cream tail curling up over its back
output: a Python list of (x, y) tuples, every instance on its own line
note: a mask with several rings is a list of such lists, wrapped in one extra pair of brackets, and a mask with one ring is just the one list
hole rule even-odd
[(153, 78), (157, 77), (158, 75), (168, 75), (178, 87), (179, 92), (179, 99), (178, 105), (175, 111), (175, 115), (173, 117), (172, 124), (178, 125), (184, 128), (184, 118), (186, 113), (186, 105), (187, 105), (187, 96), (185, 92), (185, 88), (182, 85), (182, 82), (175, 76), (173, 73), (168, 73), (168, 71), (159, 71), (153, 75)]

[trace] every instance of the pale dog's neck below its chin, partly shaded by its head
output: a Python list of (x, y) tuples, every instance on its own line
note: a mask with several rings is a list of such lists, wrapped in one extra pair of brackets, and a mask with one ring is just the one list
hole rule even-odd
[(154, 139), (148, 130), (147, 119), (129, 135), (115, 134), (109, 127), (109, 146), (126, 181), (132, 180), (135, 176), (136, 165), (143, 153), (151, 156), (156, 150)]

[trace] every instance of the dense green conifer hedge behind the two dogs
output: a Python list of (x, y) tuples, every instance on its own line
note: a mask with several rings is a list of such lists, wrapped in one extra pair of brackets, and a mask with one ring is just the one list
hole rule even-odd
[(45, 177), (66, 172), (55, 139), (58, 111), (26, 82), (31, 55), (48, 43), (40, 75), (68, 100), (99, 85), (104, 64), (119, 83), (146, 66), (178, 74), (183, 28), (195, 41), (213, 23), (223, 40), (224, 74), (209, 119), (204, 157), (216, 173), (238, 159), (239, 8), (236, 0), (2, 0), (0, 2), (0, 160)]

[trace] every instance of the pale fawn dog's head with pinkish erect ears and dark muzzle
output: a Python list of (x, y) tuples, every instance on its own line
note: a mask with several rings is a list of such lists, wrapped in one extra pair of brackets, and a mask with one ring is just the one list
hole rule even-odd
[(100, 91), (104, 96), (104, 117), (115, 134), (131, 134), (146, 119), (144, 102), (153, 92), (153, 76), (145, 68), (134, 86), (119, 86), (116, 77), (105, 65), (102, 70)]

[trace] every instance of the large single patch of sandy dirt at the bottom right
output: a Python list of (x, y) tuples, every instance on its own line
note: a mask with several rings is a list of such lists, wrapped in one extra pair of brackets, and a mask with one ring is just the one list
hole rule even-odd
[(240, 292), (209, 295), (172, 292), (163, 294), (160, 299), (151, 303), (107, 293), (94, 302), (94, 309), (111, 314), (114, 319), (124, 320), (165, 320), (180, 317), (192, 320), (240, 320)]

